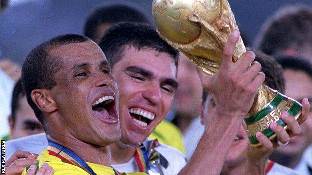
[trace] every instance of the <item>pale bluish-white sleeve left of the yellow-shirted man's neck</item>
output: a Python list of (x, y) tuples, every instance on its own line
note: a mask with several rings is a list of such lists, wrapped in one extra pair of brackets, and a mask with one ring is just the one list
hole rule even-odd
[(9, 140), (6, 142), (6, 158), (8, 159), (17, 150), (40, 154), (46, 147), (47, 139), (45, 133)]

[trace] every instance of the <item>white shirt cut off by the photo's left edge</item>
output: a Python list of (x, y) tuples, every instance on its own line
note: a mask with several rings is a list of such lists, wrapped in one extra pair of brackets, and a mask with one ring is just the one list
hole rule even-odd
[(0, 69), (0, 137), (9, 133), (8, 116), (15, 82)]

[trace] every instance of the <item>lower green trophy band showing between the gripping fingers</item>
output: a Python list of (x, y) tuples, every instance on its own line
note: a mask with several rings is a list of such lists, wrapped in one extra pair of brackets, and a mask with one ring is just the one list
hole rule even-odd
[[(301, 108), (302, 108), (301, 105), (298, 102), (294, 101), (291, 108), (288, 110), (288, 114), (296, 116)], [(281, 125), (282, 127), (286, 126), (286, 123), (282, 119), (278, 120), (277, 124)], [(265, 129), (264, 131), (262, 131), (262, 133), (268, 138), (270, 138), (275, 134), (270, 128)], [(248, 138), (251, 145), (259, 143), (258, 139), (256, 138), (256, 135), (248, 136)]]

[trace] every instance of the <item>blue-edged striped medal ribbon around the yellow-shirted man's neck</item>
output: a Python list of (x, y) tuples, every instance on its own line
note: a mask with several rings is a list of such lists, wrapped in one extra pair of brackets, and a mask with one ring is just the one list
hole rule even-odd
[[(63, 147), (53, 141), (48, 141), (47, 151), (49, 152), (49, 155), (58, 157), (62, 162), (78, 166), (91, 175), (97, 175), (82, 158), (66, 147)], [(115, 175), (122, 175), (114, 168), (113, 171), (115, 172)]]

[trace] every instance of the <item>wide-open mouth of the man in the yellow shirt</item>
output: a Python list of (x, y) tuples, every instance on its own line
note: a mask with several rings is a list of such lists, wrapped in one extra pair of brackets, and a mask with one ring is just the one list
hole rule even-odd
[(102, 121), (118, 120), (115, 98), (113, 96), (103, 96), (92, 105), (95, 115)]

